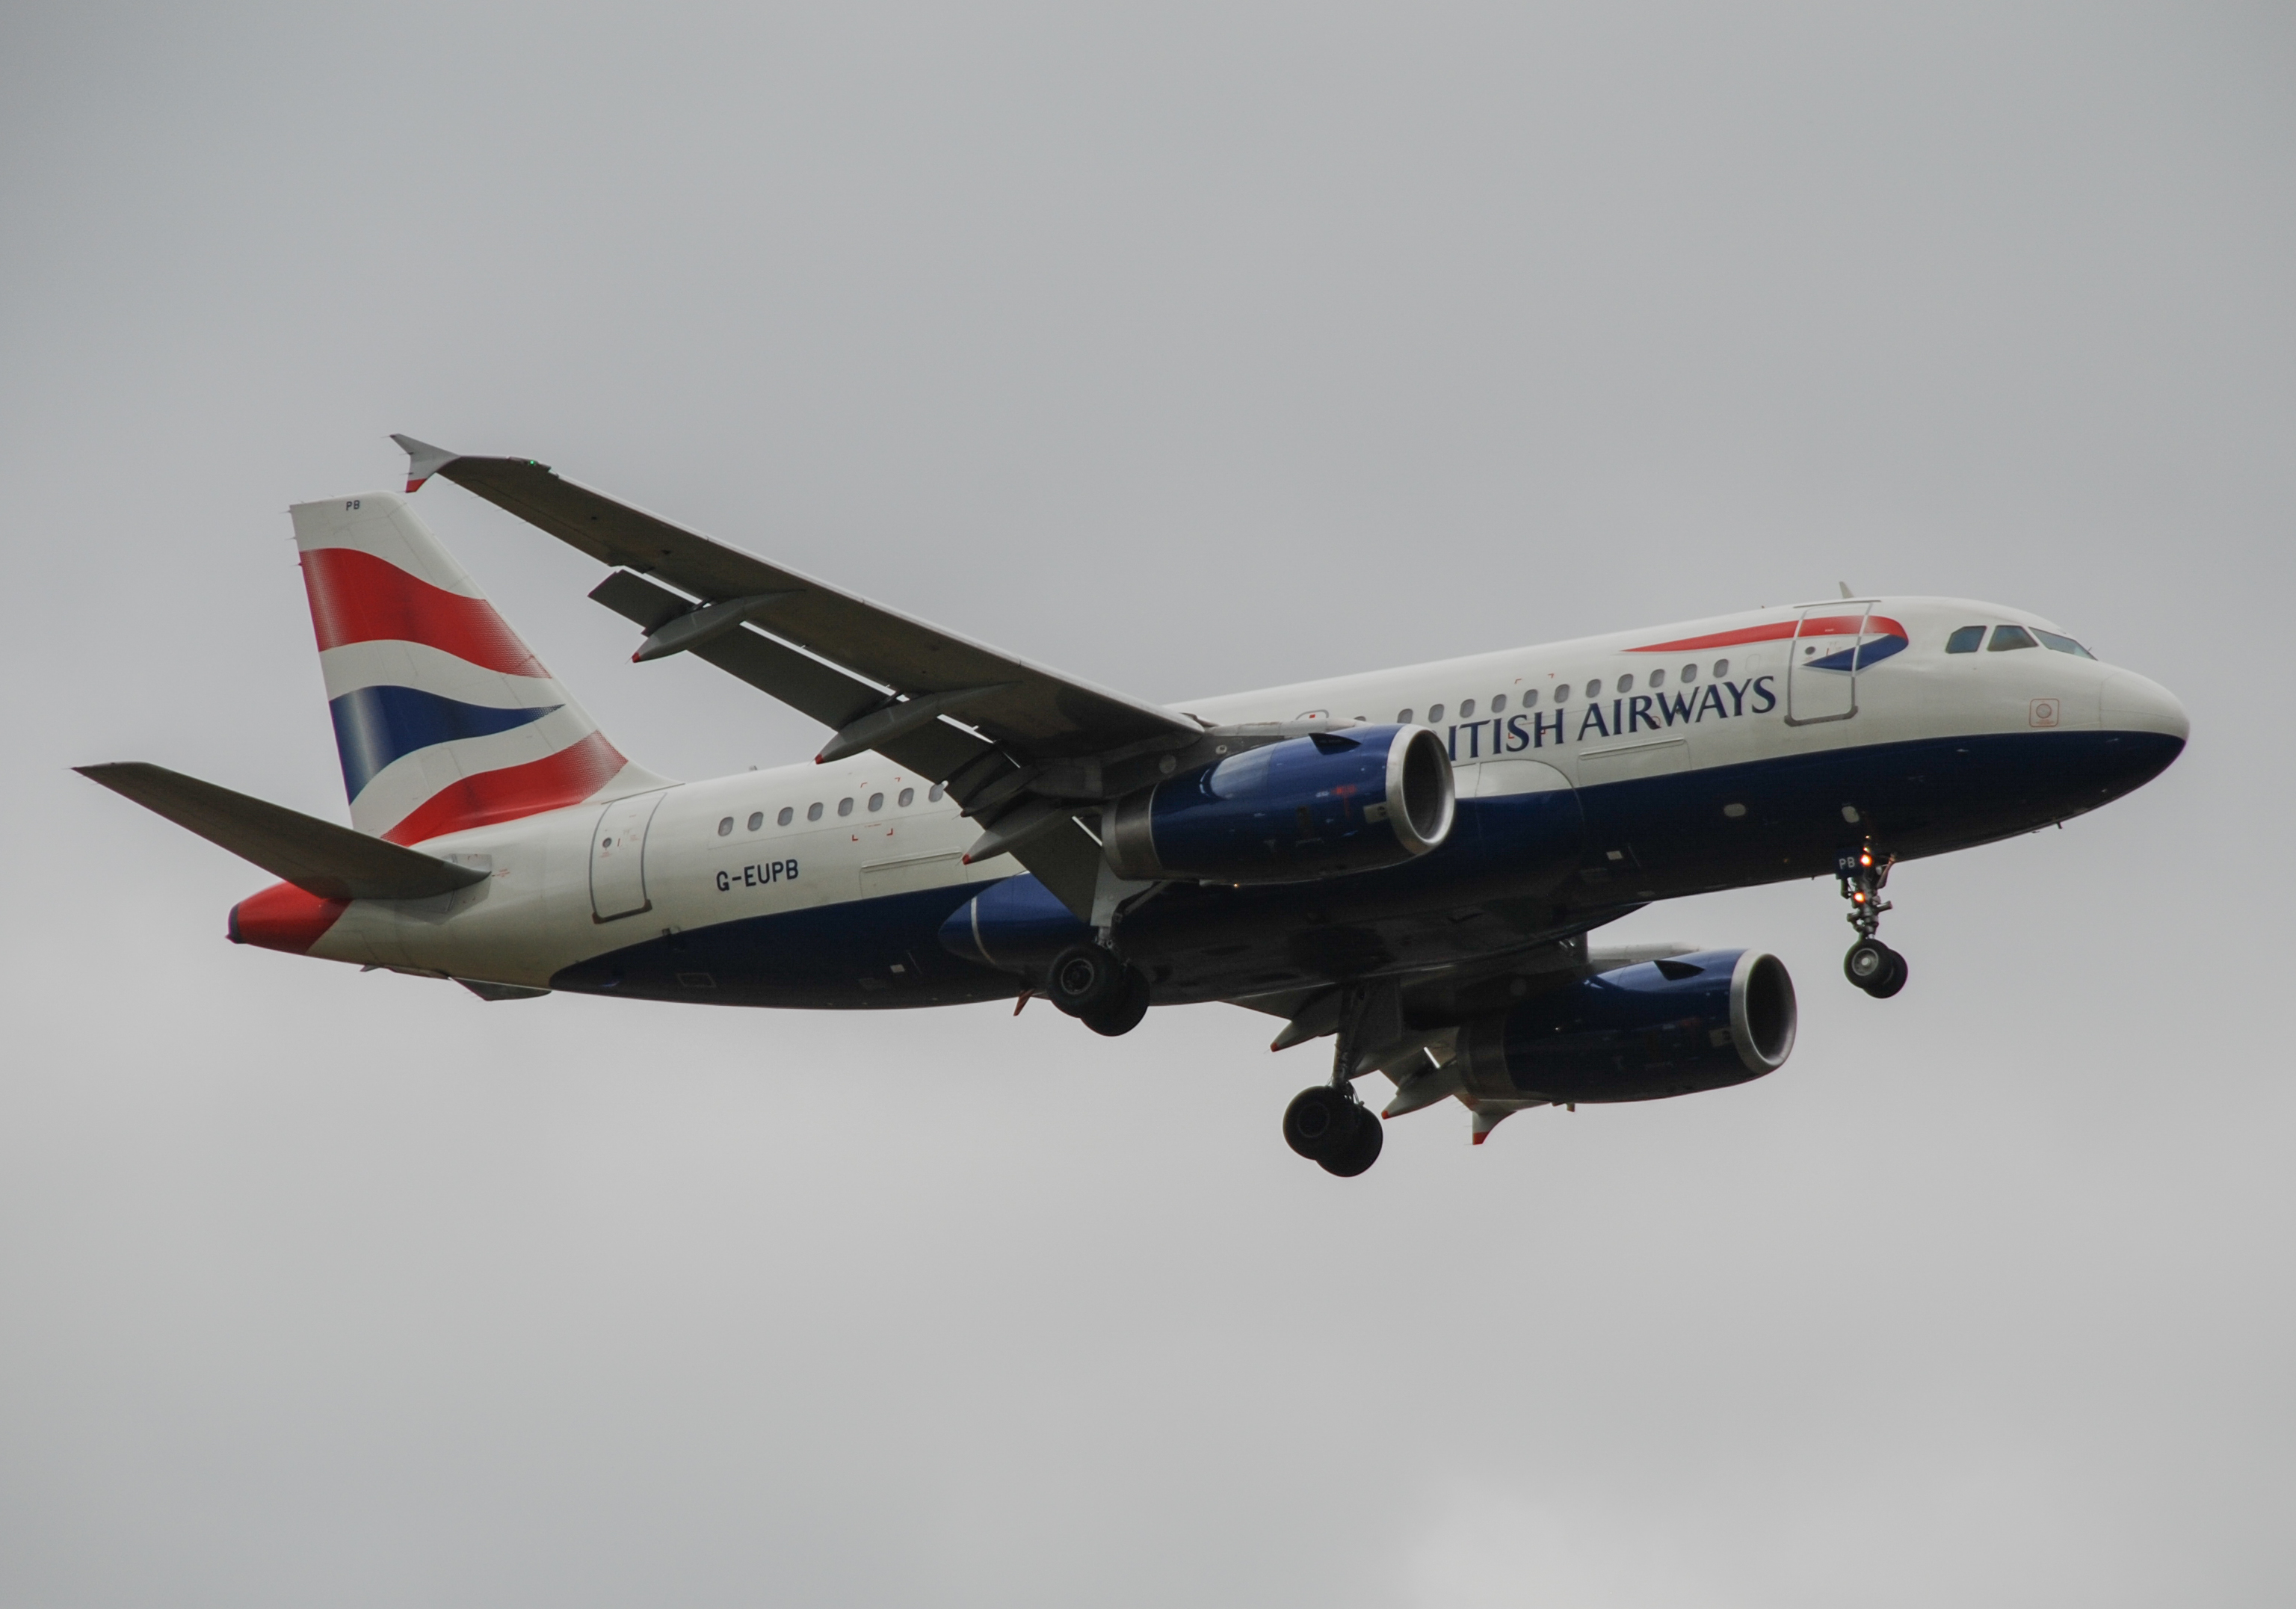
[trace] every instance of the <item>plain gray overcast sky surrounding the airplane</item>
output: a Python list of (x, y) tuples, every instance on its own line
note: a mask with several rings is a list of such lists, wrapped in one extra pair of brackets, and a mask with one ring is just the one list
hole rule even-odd
[[(2282, 1604), (2296, 14), (0, 9), (0, 1604)], [(523, 452), (1153, 698), (2037, 608), (2163, 780), (1830, 884), (1793, 1063), (1334, 1182), (1233, 1008), (223, 943), (342, 817), (285, 505)], [(434, 528), (618, 744), (813, 753)]]

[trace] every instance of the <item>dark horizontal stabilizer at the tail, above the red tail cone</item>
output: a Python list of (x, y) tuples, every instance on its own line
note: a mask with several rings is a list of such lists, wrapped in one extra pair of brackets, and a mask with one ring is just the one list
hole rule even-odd
[(404, 849), (165, 767), (131, 760), (73, 769), (321, 900), (427, 900), (487, 881), (487, 872), (478, 868)]

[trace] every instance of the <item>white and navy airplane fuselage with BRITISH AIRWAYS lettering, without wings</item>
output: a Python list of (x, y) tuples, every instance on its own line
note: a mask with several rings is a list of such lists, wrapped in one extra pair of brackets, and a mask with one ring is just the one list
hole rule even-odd
[[(1828, 617), (1860, 624), (1814, 634)], [(1991, 647), (1995, 627), (2030, 645)], [(1378, 872), (1111, 886), (1114, 934), (1157, 1003), (1240, 998), (1504, 957), (1653, 900), (1832, 875), (1860, 847), (1917, 858), (2034, 831), (2142, 785), (2186, 734), (2163, 689), (2060, 643), (2025, 611), (1857, 599), (1180, 702), (1219, 728), (1433, 728), (1458, 822)], [(877, 755), (744, 771), (422, 840), (487, 879), (354, 900), (280, 948), (721, 1005), (1010, 998), (1091, 927), (1035, 900), (1042, 934), (1017, 948), (948, 932), (1026, 877), (1008, 856), (967, 865), (978, 835)], [(1024, 891), (1003, 909), (1026, 914)], [(253, 918), (234, 936), (271, 943)]]

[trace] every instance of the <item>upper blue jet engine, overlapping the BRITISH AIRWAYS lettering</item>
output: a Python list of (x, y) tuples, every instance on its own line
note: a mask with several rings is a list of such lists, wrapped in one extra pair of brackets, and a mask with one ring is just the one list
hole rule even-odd
[(1424, 725), (1247, 748), (1125, 794), (1102, 817), (1118, 877), (1288, 884), (1401, 865), (1458, 815), (1451, 755)]

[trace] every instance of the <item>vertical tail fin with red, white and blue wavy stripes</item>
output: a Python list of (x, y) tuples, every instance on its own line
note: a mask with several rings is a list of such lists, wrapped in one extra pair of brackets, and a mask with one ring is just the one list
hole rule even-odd
[(351, 826), (418, 845), (661, 785), (606, 741), (406, 498), (292, 514)]

